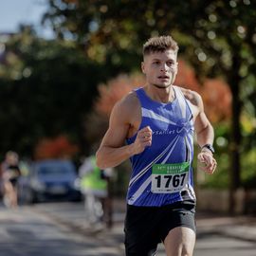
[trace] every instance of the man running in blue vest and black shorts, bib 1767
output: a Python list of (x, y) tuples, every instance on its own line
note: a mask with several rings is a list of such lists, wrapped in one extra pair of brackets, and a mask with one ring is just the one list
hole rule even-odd
[(192, 255), (194, 131), (204, 170), (213, 174), (216, 168), (214, 133), (201, 97), (174, 85), (177, 51), (171, 36), (145, 43), (141, 68), (146, 84), (114, 106), (97, 152), (101, 169), (129, 157), (132, 163), (124, 229), (129, 256), (155, 255), (159, 242), (168, 256)]

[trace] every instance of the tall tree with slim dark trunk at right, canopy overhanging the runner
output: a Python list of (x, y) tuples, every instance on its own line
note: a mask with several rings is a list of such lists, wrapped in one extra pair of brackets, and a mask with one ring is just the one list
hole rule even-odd
[[(60, 36), (71, 32), (91, 59), (138, 64), (138, 49), (153, 35), (172, 33), (200, 80), (221, 76), (232, 94), (230, 195), (241, 186), (241, 112), (255, 80), (256, 3), (249, 0), (54, 1), (46, 14)], [(136, 7), (136, 9), (135, 9)], [(63, 17), (60, 20), (60, 17)], [(129, 57), (127, 58), (127, 53)], [(131, 68), (131, 67), (130, 67)], [(200, 74), (200, 75), (199, 75)], [(234, 198), (230, 196), (230, 211)]]

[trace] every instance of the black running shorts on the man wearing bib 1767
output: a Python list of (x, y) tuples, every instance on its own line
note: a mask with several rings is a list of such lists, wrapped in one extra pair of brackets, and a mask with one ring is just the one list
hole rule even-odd
[(163, 207), (127, 205), (124, 224), (126, 256), (155, 255), (157, 244), (176, 227), (187, 227), (195, 232), (194, 212), (192, 201)]

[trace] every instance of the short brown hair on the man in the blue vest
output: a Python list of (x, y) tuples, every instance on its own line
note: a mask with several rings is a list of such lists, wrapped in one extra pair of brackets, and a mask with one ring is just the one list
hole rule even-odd
[(172, 36), (152, 37), (143, 45), (143, 56), (168, 49), (173, 49), (176, 53), (178, 51), (178, 45)]

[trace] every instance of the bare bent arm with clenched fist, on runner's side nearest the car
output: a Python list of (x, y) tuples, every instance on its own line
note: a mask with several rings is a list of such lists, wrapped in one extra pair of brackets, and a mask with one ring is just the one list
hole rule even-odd
[(152, 132), (149, 127), (144, 127), (137, 132), (134, 143), (124, 145), (129, 129), (133, 127), (133, 115), (136, 108), (131, 104), (132, 96), (128, 96), (114, 106), (109, 127), (102, 138), (101, 146), (96, 153), (97, 165), (101, 169), (115, 167), (132, 155), (141, 153), (146, 146), (151, 145)]

